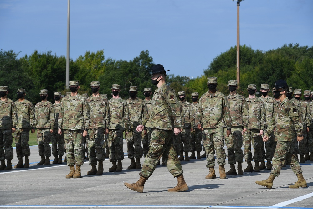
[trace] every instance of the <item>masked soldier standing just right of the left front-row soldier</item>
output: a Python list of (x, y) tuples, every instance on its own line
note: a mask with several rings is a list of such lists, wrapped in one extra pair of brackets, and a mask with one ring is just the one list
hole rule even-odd
[[(110, 126), (110, 107), (108, 100), (100, 93), (100, 82), (90, 83), (92, 95), (87, 98), (90, 107), (90, 126), (88, 127), (88, 153), (89, 165), (91, 170), (87, 175), (102, 175), (103, 161), (105, 160), (104, 135), (109, 132)], [(97, 161), (98, 170), (96, 168)]]

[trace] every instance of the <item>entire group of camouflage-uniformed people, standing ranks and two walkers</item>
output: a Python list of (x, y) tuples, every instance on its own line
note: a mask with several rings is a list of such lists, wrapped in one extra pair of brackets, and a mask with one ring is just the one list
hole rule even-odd
[[(137, 97), (136, 86), (130, 86), (130, 97), (124, 100), (119, 96), (121, 86), (113, 84), (112, 98), (108, 99), (106, 94), (99, 93), (98, 81), (90, 83), (90, 97), (78, 93), (79, 81), (70, 81), (70, 92), (63, 98), (60, 92), (55, 92), (52, 104), (47, 101), (48, 90), (42, 89), (41, 102), (33, 106), (25, 98), (25, 89), (17, 90), (18, 100), (13, 102), (7, 98), (8, 86), (0, 86), (0, 170), (12, 169), (12, 133), (18, 158), (14, 168), (29, 168), (29, 133), (37, 129), (41, 157), (37, 165), (50, 165), (51, 142), (53, 164), (63, 163), (65, 152), (64, 162), (70, 170), (66, 178), (80, 178), (85, 159), (91, 165), (87, 175), (102, 175), (105, 158), (112, 163), (109, 172), (120, 172), (125, 132), (127, 156), (131, 161), (127, 169), (141, 169), (141, 172), (136, 183), (124, 185), (140, 193), (160, 165), (161, 157), (162, 165), (177, 178), (177, 186), (168, 192), (188, 190), (181, 161), (206, 158), (209, 173), (205, 178), (216, 178), (214, 155), (220, 179), (267, 169), (271, 170), (269, 178), (255, 183), (272, 188), (281, 168), (290, 165), (298, 181), (289, 188), (307, 186), (298, 154), (300, 163), (313, 161), (313, 128), (310, 129), (313, 92), (305, 90), (305, 101), (301, 100), (301, 89), (292, 90), (286, 81), (278, 80), (272, 89), (275, 98), (269, 96), (269, 84), (260, 86), (260, 97), (256, 97), (257, 86), (248, 85), (249, 96), (245, 98), (237, 93), (237, 80), (230, 80), (230, 93), (225, 96), (217, 91), (217, 78), (208, 77), (208, 91), (200, 97), (198, 92), (193, 92), (189, 103), (185, 91), (178, 92), (177, 100), (175, 91), (166, 84), (167, 74), (162, 65), (154, 65), (151, 76), (157, 90), (153, 94), (151, 88), (145, 88), (144, 100)], [(225, 144), (228, 172), (224, 167)], [(244, 170), (243, 160), (248, 164)]]

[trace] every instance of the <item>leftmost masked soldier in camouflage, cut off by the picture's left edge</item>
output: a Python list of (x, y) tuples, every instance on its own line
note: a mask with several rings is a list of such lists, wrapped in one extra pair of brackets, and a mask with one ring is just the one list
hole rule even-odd
[[(0, 170), (12, 169), (12, 133), (16, 131), (18, 125), (18, 111), (7, 94), (8, 86), (0, 86)], [(5, 165), (5, 159), (7, 159), (7, 165)]]

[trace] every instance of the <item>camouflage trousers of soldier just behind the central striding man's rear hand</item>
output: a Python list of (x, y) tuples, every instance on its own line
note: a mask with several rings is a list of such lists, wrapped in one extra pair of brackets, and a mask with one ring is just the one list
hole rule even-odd
[(173, 133), (173, 144), (177, 154), (180, 154), (181, 152), (189, 152), (190, 128), (182, 129), (182, 131), (177, 136)]

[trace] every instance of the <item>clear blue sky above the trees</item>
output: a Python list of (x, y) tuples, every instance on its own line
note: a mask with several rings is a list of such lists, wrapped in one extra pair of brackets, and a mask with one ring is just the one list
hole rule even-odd
[[(73, 60), (102, 49), (105, 58), (132, 60), (149, 50), (169, 73), (196, 77), (236, 46), (236, 1), (72, 0), (70, 9)], [(289, 43), (313, 46), (312, 11), (312, 0), (242, 1), (240, 44), (263, 51)], [(3, 50), (66, 55), (66, 31), (67, 0), (0, 1)]]

